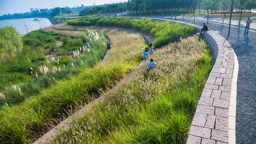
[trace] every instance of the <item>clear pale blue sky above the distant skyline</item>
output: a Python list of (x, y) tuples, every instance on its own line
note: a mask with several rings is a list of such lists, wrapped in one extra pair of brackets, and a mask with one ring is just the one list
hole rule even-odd
[[(117, 0), (112, 0), (111, 2), (116, 2)], [(30, 8), (52, 8), (53, 7), (63, 7), (69, 6), (91, 6), (95, 3), (96, 5), (101, 5), (104, 3), (110, 3), (110, 0), (0, 0), (0, 16), (3, 14), (13, 14), (15, 13), (26, 13), (30, 12)]]

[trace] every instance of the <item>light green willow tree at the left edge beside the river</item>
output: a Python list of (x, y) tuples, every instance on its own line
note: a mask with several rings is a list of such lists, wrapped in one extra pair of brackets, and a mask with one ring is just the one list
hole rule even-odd
[(0, 29), (0, 57), (3, 58), (5, 54), (12, 54), (22, 49), (23, 43), (20, 34), (13, 26), (5, 26)]

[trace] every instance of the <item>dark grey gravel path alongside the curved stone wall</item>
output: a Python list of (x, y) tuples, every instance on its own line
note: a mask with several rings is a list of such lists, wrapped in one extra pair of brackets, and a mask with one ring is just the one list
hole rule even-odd
[[(193, 24), (201, 25), (201, 22)], [(222, 29), (219, 24), (209, 23), (207, 26), (211, 30), (219, 31), (228, 40), (239, 62), (236, 143), (256, 144), (256, 33), (249, 31), (248, 36), (243, 36), (244, 29), (239, 33), (237, 28), (231, 27), (228, 36), (228, 26), (223, 26)]]

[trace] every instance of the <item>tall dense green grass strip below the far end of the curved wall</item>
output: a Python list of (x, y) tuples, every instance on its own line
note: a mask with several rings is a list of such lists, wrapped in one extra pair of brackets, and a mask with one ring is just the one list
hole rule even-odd
[(81, 17), (67, 21), (67, 24), (73, 26), (115, 26), (149, 33), (155, 37), (153, 45), (159, 48), (167, 45), (169, 42), (174, 42), (177, 35), (182, 38), (187, 38), (195, 32), (192, 26), (186, 26), (173, 22), (157, 22), (153, 19), (130, 19), (130, 18), (109, 18), (109, 17)]

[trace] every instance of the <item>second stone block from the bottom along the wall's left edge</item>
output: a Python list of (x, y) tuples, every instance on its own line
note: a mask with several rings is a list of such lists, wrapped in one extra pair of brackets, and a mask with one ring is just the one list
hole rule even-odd
[(202, 138), (210, 138), (211, 129), (206, 127), (198, 127), (198, 126), (191, 125), (189, 134), (193, 136), (202, 137)]

